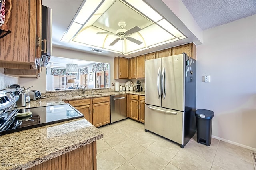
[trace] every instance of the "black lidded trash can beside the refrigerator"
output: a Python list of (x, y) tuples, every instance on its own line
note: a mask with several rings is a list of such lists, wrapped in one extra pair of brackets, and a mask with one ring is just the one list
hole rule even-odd
[(212, 118), (214, 112), (206, 109), (196, 110), (197, 142), (210, 146), (212, 142)]

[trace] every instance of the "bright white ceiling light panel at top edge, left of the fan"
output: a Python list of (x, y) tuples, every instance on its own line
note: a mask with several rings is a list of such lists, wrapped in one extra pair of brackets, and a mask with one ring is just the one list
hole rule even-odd
[(86, 0), (84, 6), (76, 16), (74, 22), (84, 24), (86, 20), (92, 15), (94, 10), (98, 7), (102, 0)]

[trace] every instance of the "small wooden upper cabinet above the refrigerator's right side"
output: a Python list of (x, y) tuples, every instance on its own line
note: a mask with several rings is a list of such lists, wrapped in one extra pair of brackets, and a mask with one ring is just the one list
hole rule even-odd
[(189, 57), (196, 59), (196, 45), (194, 43), (188, 43), (177, 47), (172, 47), (172, 55), (186, 53)]

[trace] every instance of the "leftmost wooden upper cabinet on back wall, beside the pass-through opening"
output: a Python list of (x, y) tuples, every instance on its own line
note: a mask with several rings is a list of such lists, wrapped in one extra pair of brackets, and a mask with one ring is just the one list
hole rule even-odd
[(128, 79), (129, 65), (128, 58), (115, 57), (114, 58), (114, 79)]

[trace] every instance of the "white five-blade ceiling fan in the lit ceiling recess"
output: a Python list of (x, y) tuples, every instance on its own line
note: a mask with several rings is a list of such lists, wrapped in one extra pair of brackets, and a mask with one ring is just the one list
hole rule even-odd
[(108, 34), (108, 35), (118, 36), (119, 38), (116, 38), (116, 40), (114, 40), (112, 43), (110, 43), (109, 44), (110, 46), (115, 45), (115, 43), (117, 43), (119, 40), (124, 40), (124, 39), (134, 42), (138, 45), (140, 45), (142, 43), (141, 41), (136, 40), (135, 38), (127, 37), (130, 34), (133, 34), (135, 32), (142, 30), (140, 27), (135, 26), (135, 27), (131, 28), (130, 30), (126, 30), (126, 29), (124, 29), (124, 27), (126, 26), (125, 22), (119, 22), (118, 26), (120, 26), (120, 29), (118, 29), (116, 31), (116, 34), (114, 34), (112, 32), (97, 32), (97, 34)]

